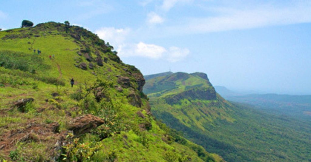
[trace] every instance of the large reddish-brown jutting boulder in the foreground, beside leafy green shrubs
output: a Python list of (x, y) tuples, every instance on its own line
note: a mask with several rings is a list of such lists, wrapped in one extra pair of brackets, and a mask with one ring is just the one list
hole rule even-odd
[(94, 129), (100, 125), (104, 124), (104, 120), (88, 114), (88, 115), (84, 115), (84, 116), (79, 116), (74, 118), (68, 126), (69, 130), (73, 131), (73, 134), (76, 137), (79, 137), (85, 133), (90, 132), (91, 129)]

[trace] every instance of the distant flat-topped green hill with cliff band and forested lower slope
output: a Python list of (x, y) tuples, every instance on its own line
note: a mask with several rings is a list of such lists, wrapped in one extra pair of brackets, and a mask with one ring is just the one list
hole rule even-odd
[(308, 122), (230, 103), (204, 73), (152, 77), (144, 92), (157, 118), (227, 161), (311, 161)]

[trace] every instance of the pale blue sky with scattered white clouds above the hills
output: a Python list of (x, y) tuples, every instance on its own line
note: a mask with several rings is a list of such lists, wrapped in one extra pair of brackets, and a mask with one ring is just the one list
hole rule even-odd
[(144, 75), (198, 71), (231, 90), (311, 94), (311, 1), (1, 2), (0, 28), (24, 19), (83, 26)]

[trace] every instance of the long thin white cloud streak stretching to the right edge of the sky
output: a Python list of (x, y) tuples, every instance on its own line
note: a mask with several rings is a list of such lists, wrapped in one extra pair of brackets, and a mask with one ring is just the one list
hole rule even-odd
[(181, 34), (208, 33), (311, 22), (311, 3), (299, 3), (283, 8), (271, 5), (245, 8), (214, 9), (217, 16), (190, 18), (183, 25), (171, 26), (167, 29), (169, 32)]

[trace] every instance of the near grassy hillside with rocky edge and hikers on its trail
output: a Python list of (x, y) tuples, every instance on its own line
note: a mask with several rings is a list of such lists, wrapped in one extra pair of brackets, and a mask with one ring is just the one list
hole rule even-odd
[(156, 121), (144, 84), (81, 27), (1, 31), (0, 161), (223, 161)]

